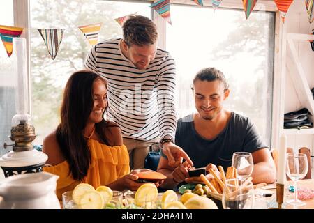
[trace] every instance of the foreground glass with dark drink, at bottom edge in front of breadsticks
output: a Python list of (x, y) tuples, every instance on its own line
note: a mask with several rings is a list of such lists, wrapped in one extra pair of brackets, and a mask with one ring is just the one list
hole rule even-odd
[(254, 207), (253, 183), (235, 178), (225, 180), (222, 203), (224, 209), (252, 209)]

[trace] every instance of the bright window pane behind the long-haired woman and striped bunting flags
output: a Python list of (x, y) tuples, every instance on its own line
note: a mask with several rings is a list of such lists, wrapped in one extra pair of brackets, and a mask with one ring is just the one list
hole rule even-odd
[[(44, 6), (44, 7), (43, 7)], [(115, 18), (136, 13), (151, 17), (149, 3), (91, 0), (31, 1), (31, 76), (33, 122), (38, 137), (34, 144), (59, 124), (62, 90), (68, 77), (84, 68), (91, 46), (77, 26), (103, 22), (99, 40), (121, 37)], [(65, 28), (59, 52), (52, 60), (36, 29)]]

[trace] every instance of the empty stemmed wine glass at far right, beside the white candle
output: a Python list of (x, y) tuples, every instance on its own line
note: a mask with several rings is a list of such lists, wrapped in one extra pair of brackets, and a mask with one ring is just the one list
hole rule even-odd
[(286, 203), (294, 207), (303, 206), (305, 203), (297, 199), (297, 180), (301, 180), (308, 173), (308, 158), (306, 154), (287, 153), (286, 161), (287, 176), (294, 182), (294, 199), (288, 200)]

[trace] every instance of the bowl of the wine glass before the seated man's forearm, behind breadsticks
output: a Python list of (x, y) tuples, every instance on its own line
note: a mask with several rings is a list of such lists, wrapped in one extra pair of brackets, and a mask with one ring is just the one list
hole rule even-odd
[(237, 170), (237, 179), (246, 180), (253, 172), (252, 154), (248, 152), (233, 153), (232, 167)]

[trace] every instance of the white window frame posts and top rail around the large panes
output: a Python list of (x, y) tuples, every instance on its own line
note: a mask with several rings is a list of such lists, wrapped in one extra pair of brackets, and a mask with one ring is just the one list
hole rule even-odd
[[(103, 0), (106, 1), (106, 0)], [(128, 1), (128, 2), (151, 2), (153, 0), (110, 0), (110, 1)], [(171, 0), (171, 4), (179, 4), (179, 5), (188, 5), (195, 6), (193, 1), (190, 0)], [(211, 3), (208, 1), (204, 2), (204, 7), (211, 7)], [(220, 4), (221, 8), (231, 8), (231, 9), (243, 9), (242, 1), (234, 2), (232, 0), (224, 0)], [(284, 97), (283, 97), (283, 89), (285, 89), (284, 85), (284, 74), (282, 72), (281, 67), (281, 56), (283, 54), (283, 50), (285, 48), (285, 39), (287, 30), (286, 26), (280, 21), (280, 16), (278, 13), (278, 9), (274, 1), (270, 0), (260, 0), (257, 1), (257, 4), (254, 8), (255, 10), (264, 10), (270, 12), (276, 12), (275, 19), (275, 39), (274, 39), (274, 77), (273, 77), (273, 95), (272, 95), (272, 108), (271, 108), (271, 148), (278, 148), (279, 145), (279, 136), (283, 134), (283, 128), (281, 128), (280, 114), (283, 114), (284, 111)], [(27, 66), (29, 70), (28, 84), (29, 84), (29, 98), (31, 98), (31, 66), (30, 66), (30, 0), (13, 0), (13, 11), (14, 11), (14, 25), (24, 27), (24, 31), (22, 33), (23, 38), (27, 40)], [(156, 13), (155, 10), (151, 9), (151, 18), (156, 23), (158, 33), (159, 33), (159, 41), (158, 46), (165, 49), (166, 46), (166, 21), (163, 20), (162, 17)], [(278, 89), (274, 86), (278, 86)], [(32, 114), (31, 111), (31, 100), (29, 100), (29, 114)]]

